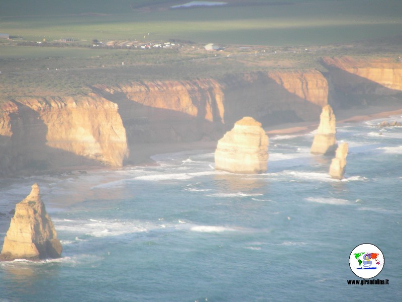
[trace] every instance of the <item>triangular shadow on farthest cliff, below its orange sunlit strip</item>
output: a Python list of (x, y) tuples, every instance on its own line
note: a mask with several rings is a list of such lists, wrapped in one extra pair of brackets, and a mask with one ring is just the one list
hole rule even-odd
[(330, 90), (334, 102), (334, 109), (366, 108), (368, 106), (396, 106), (402, 104), (402, 91), (387, 88), (374, 81), (360, 77), (338, 68), (321, 63), (328, 69), (323, 72), (328, 83), (332, 84)]

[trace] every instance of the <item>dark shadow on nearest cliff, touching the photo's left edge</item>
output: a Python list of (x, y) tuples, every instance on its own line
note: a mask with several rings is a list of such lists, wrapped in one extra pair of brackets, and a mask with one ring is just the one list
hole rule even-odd
[(46, 145), (48, 128), (40, 115), (28, 106), (14, 103), (18, 112), (10, 114), (13, 135), (0, 137), (0, 176), (49, 173), (77, 166), (100, 166), (97, 161)]

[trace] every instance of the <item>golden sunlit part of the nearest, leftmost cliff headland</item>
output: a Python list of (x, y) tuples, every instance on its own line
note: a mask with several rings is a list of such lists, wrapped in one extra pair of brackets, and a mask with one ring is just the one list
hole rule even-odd
[(47, 127), (46, 144), (110, 166), (122, 166), (128, 154), (118, 106), (104, 98), (20, 99)]

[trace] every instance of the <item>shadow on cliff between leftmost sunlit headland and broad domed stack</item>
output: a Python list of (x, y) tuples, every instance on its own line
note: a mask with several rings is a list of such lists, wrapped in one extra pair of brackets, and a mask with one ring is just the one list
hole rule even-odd
[(194, 117), (174, 110), (139, 104), (121, 92), (110, 94), (95, 87), (92, 90), (119, 106), (130, 150), (129, 159), (124, 164), (136, 162), (135, 147), (139, 144), (215, 141), (223, 135), (222, 123), (206, 120), (202, 109)]

